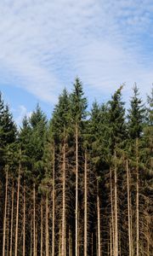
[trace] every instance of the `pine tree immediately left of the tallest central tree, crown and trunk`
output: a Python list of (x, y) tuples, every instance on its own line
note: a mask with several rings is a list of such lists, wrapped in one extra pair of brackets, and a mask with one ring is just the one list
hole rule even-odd
[[(70, 137), (70, 98), (66, 90), (63, 90), (59, 96), (59, 102), (54, 108), (53, 118), (51, 120), (51, 131), (54, 139), (54, 166), (59, 170), (59, 177), (61, 179), (60, 191), (61, 191), (61, 237), (59, 237), (59, 245), (61, 245), (61, 255), (66, 254), (66, 219), (68, 218), (68, 199), (66, 194), (68, 193), (66, 187), (69, 182), (67, 173), (67, 147)], [(55, 157), (58, 157), (56, 159)], [(53, 178), (54, 177), (54, 166), (53, 166)], [(56, 173), (57, 177), (57, 173)], [(53, 181), (54, 185), (55, 180)], [(54, 192), (54, 191), (53, 191)], [(53, 198), (54, 200), (54, 198)], [(60, 200), (60, 199), (59, 199)], [(54, 201), (53, 201), (54, 206)], [(53, 226), (54, 227), (54, 226)], [(59, 227), (60, 230), (60, 227)]]

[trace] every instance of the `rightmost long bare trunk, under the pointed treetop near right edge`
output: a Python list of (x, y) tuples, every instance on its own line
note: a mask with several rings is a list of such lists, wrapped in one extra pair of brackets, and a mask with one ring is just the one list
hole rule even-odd
[(138, 156), (138, 138), (136, 138), (136, 227), (137, 227), (137, 241), (136, 241), (136, 247), (137, 247), (137, 253), (136, 255), (139, 256), (139, 156)]

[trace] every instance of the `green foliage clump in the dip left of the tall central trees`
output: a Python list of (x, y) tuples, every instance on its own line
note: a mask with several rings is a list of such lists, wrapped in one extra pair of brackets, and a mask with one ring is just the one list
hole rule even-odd
[(24, 175), (30, 180), (40, 182), (44, 176), (43, 154), (46, 144), (47, 118), (37, 105), (31, 118), (23, 119), (20, 129), (20, 145), (22, 150), (22, 168)]

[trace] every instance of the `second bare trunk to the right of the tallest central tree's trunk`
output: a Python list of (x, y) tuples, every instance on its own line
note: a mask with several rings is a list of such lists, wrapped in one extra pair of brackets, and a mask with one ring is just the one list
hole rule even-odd
[(97, 222), (98, 222), (98, 256), (101, 255), (101, 237), (100, 237), (100, 207), (99, 207), (99, 181), (97, 180)]

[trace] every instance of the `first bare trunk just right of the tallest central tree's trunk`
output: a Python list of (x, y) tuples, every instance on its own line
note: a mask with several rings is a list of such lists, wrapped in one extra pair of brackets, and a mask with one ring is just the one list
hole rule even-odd
[(87, 183), (87, 152), (85, 152), (85, 163), (84, 163), (84, 256), (88, 255), (88, 221), (87, 221), (87, 197), (88, 197), (88, 183)]

